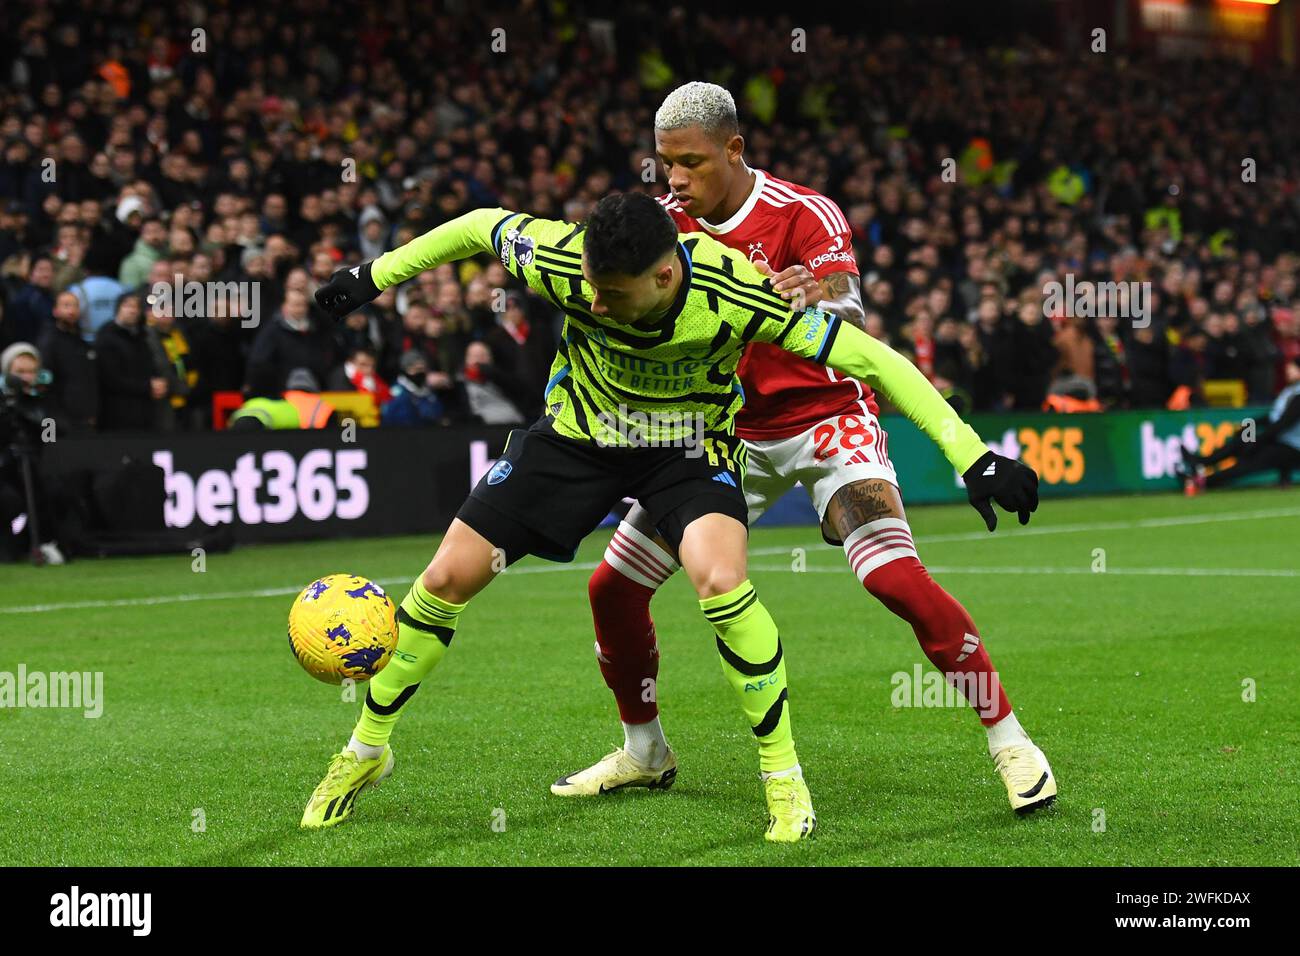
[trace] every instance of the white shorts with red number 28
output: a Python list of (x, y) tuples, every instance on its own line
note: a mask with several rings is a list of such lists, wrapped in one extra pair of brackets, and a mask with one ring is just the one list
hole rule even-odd
[(823, 419), (805, 432), (772, 441), (745, 441), (745, 503), (750, 525), (790, 490), (803, 485), (822, 519), (822, 537), (828, 544), (835, 531), (826, 525), (831, 498), (848, 484), (884, 479), (894, 488), (898, 476), (889, 460), (889, 436), (866, 407)]

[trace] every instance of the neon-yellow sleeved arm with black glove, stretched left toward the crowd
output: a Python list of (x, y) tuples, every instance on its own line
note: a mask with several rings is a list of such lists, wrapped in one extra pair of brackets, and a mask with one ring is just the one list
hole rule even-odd
[(480, 252), (494, 252), (493, 229), (510, 215), (506, 209), (474, 209), (458, 216), (378, 259), (339, 269), (316, 290), (316, 302), (335, 319), (342, 319), (389, 286), (425, 269)]

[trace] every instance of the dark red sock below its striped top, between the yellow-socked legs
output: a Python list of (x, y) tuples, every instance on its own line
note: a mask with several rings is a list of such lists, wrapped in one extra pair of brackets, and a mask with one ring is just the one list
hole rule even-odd
[(659, 715), (654, 683), (659, 676), (659, 643), (650, 618), (654, 588), (602, 561), (592, 572), (588, 596), (595, 624), (595, 659), (619, 702), (619, 718), (624, 723), (653, 721)]

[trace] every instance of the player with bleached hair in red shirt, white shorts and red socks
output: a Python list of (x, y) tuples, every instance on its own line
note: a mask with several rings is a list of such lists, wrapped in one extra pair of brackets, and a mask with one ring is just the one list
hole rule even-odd
[[(734, 100), (723, 87), (686, 83), (664, 99), (655, 114), (655, 150), (671, 190), (660, 202), (677, 229), (705, 230), (745, 252), (792, 304), (816, 304), (861, 328), (858, 268), (844, 213), (814, 190), (750, 169), (744, 146)], [(750, 523), (802, 481), (826, 541), (844, 546), (863, 587), (911, 624), (931, 663), (979, 713), (1011, 806), (1024, 813), (1050, 804), (1056, 779), (1011, 711), (975, 622), (920, 563), (871, 389), (762, 343), (749, 346), (737, 371), (745, 407), (736, 431), (748, 449)], [(997, 519), (987, 496), (976, 499), (975, 486), (996, 480), (993, 471), (993, 457), (985, 455), (965, 475), (989, 531)], [(1019, 512), (1022, 524), (1028, 510)], [(677, 567), (633, 505), (589, 584), (597, 659), (618, 700), (624, 745), (556, 780), (554, 793), (664, 788), (675, 779), (677, 761), (654, 693), (659, 646), (650, 598)]]

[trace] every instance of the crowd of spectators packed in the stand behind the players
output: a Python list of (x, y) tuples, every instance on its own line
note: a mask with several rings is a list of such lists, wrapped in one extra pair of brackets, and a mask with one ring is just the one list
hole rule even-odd
[[(793, 21), (684, 8), (359, 9), (0, 10), (0, 349), (36, 347), (56, 418), (211, 428), (214, 394), (296, 376), (386, 423), (530, 420), (560, 316), (499, 263), (338, 326), (312, 293), (476, 207), (664, 191), (653, 113), (701, 78), (736, 94), (751, 166), (840, 203), (867, 330), (966, 408), (1195, 405), (1223, 378), (1264, 402), (1300, 354), (1294, 75), (811, 25), (798, 49)], [(1067, 277), (1150, 295), (1046, 308)]]

